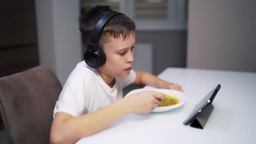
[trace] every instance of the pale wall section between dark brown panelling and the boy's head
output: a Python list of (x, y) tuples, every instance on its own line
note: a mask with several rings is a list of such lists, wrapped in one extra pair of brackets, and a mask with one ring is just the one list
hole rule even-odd
[(62, 85), (82, 60), (80, 0), (36, 0), (40, 65), (49, 65)]

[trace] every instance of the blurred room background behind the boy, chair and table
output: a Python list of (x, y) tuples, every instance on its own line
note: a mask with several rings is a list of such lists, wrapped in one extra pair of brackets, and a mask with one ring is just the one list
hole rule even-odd
[(255, 0), (6, 0), (0, 5), (0, 77), (49, 65), (64, 85), (83, 60), (78, 17), (97, 4), (135, 21), (135, 70), (256, 72)]

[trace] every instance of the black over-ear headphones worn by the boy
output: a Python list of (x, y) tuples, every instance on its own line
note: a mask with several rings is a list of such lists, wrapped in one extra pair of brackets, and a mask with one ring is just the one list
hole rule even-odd
[(84, 59), (87, 65), (89, 65), (91, 68), (97, 69), (101, 67), (106, 62), (106, 56), (105, 53), (101, 48), (99, 48), (98, 45), (98, 38), (100, 34), (102, 33), (103, 28), (105, 27), (108, 20), (110, 20), (112, 17), (123, 14), (118, 13), (115, 11), (112, 11), (110, 13), (106, 13), (102, 16), (102, 18), (98, 21), (98, 23), (95, 25), (89, 42), (89, 47), (85, 51)]

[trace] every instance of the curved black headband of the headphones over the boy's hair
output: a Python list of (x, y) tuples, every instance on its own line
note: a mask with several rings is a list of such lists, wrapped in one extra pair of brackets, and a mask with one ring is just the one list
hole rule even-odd
[(107, 13), (104, 16), (102, 16), (102, 18), (98, 21), (98, 23), (95, 25), (95, 27), (92, 31), (92, 34), (90, 37), (90, 42), (89, 42), (89, 49), (91, 49), (92, 51), (95, 51), (97, 49), (98, 38), (99, 38), (100, 34), (102, 33), (102, 30), (105, 27), (106, 23), (113, 16), (118, 15), (118, 14), (123, 14), (123, 13), (118, 13), (118, 12), (112, 11), (112, 12)]

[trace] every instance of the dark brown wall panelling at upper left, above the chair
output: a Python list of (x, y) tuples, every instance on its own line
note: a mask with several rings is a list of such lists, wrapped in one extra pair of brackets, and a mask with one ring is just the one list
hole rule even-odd
[(34, 0), (2, 1), (0, 77), (39, 65)]

